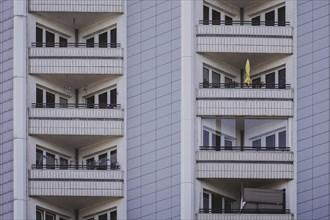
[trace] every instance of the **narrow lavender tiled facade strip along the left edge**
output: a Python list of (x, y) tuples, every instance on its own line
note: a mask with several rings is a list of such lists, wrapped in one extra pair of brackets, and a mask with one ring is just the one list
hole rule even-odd
[(13, 1), (0, 0), (0, 219), (13, 219)]

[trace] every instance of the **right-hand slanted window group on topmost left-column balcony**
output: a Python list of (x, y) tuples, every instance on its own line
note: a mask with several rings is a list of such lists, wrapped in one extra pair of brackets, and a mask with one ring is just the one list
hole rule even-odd
[(111, 48), (116, 48), (117, 28), (109, 29), (100, 34), (94, 34), (94, 36), (86, 39), (86, 47), (94, 47), (95, 45), (98, 45), (100, 48), (107, 48), (109, 46)]

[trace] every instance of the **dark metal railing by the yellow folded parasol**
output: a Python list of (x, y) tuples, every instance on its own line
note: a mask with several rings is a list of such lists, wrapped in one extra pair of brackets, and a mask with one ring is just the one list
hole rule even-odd
[(208, 83), (203, 82), (199, 84), (200, 89), (290, 89), (290, 84), (266, 84), (266, 83), (252, 83), (246, 85), (245, 83)]

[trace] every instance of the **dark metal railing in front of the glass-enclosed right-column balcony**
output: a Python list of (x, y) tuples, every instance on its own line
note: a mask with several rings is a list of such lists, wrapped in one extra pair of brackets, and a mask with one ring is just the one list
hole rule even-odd
[(290, 151), (289, 147), (200, 146), (202, 151)]

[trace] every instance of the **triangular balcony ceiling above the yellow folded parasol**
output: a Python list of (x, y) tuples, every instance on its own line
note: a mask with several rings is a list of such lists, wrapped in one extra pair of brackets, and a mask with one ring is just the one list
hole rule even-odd
[(287, 56), (283, 54), (246, 54), (246, 53), (244, 54), (243, 53), (204, 53), (204, 54), (211, 57), (214, 61), (220, 60), (239, 69), (244, 69), (246, 60), (249, 59), (251, 64), (251, 73), (253, 71), (253, 66), (267, 62), (274, 62), (275, 60)]

